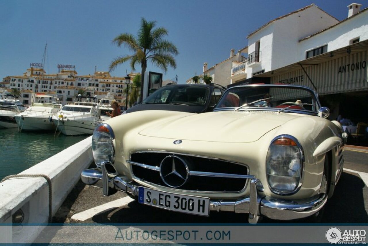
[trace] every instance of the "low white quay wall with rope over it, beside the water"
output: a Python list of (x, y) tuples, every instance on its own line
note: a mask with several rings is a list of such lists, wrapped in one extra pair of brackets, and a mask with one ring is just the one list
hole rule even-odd
[[(92, 136), (57, 153), (20, 174), (43, 174), (52, 181), (52, 215), (60, 208), (81, 172), (93, 161)], [(9, 226), (13, 214), (21, 209), (22, 225)], [(0, 243), (29, 243), (42, 230), (26, 224), (46, 224), (49, 221), (49, 185), (43, 177), (11, 178), (0, 183)], [(8, 226), (3, 226), (8, 225)], [(27, 229), (29, 228), (29, 229)]]

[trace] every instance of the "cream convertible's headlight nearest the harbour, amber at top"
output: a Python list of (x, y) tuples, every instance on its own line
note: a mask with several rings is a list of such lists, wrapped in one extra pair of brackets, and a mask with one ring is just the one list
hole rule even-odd
[(92, 153), (98, 167), (101, 167), (101, 164), (106, 161), (114, 164), (114, 142), (115, 135), (110, 125), (102, 123), (96, 126), (92, 136)]

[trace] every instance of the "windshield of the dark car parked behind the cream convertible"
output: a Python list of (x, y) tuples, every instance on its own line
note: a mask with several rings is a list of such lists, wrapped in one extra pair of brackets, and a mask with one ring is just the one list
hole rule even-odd
[(206, 104), (208, 94), (209, 88), (202, 86), (164, 86), (153, 92), (143, 100), (142, 103), (204, 106)]

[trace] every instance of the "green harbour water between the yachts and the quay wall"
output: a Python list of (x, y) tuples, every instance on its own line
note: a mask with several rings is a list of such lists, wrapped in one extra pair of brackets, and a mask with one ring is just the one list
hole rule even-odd
[(18, 128), (0, 129), (0, 181), (18, 174), (59, 153), (90, 135), (54, 137), (54, 132), (18, 132)]

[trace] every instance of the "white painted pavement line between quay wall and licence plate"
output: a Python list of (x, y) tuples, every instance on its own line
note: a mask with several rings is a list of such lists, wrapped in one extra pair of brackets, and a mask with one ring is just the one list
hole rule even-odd
[(85, 220), (88, 220), (89, 218), (92, 218), (96, 214), (102, 213), (102, 212), (104, 212), (106, 210), (110, 210), (112, 208), (124, 206), (124, 205), (126, 205), (126, 204), (128, 204), (132, 201), (134, 201), (134, 199), (130, 198), (129, 196), (125, 196), (125, 197), (117, 199), (115, 201), (105, 203), (105, 204), (102, 204), (102, 205), (97, 206), (97, 207), (90, 208), (90, 209), (85, 210), (85, 211), (83, 211), (81, 213), (78, 213), (78, 214), (74, 214), (71, 217), (71, 219), (72, 220), (85, 221)]

